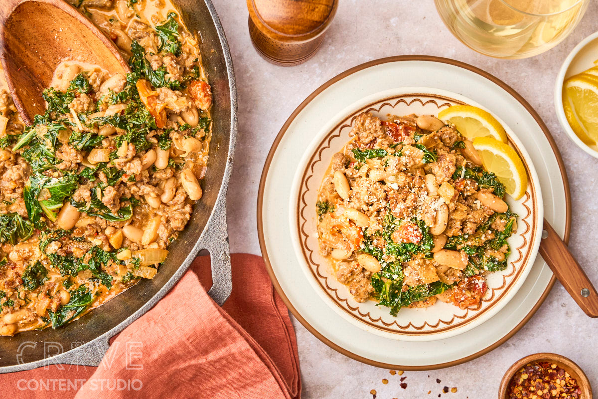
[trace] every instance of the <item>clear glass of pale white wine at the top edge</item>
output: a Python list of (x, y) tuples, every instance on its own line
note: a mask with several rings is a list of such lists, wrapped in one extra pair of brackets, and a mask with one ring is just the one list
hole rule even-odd
[(575, 28), (590, 0), (434, 0), (451, 32), (487, 56), (525, 58)]

